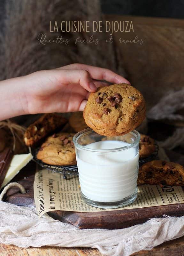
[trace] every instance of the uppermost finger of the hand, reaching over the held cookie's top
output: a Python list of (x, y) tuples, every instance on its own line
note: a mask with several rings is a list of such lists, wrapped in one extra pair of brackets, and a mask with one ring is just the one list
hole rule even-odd
[(123, 76), (119, 76), (118, 74), (114, 73), (113, 71), (107, 68), (98, 68), (98, 67), (89, 66), (85, 64), (71, 64), (65, 67), (61, 67), (59, 69), (70, 69), (70, 70), (83, 69), (83, 70), (87, 70), (93, 79), (106, 80), (114, 84), (119, 84), (119, 83), (130, 84), (130, 82), (127, 79), (125, 79)]

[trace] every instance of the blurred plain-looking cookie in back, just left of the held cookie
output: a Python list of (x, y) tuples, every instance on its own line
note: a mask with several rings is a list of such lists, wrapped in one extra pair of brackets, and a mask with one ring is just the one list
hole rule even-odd
[(69, 118), (69, 124), (75, 132), (80, 132), (88, 128), (88, 125), (85, 123), (82, 111), (72, 113)]

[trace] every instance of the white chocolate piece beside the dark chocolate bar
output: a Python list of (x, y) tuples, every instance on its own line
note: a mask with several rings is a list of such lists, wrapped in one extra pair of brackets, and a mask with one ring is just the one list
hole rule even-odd
[(19, 173), (19, 171), (31, 161), (32, 158), (33, 156), (30, 153), (14, 155), (1, 188), (3, 188), (8, 182), (10, 182)]

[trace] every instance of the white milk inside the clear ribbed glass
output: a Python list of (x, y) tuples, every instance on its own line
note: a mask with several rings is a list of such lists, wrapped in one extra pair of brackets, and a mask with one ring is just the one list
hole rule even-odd
[[(91, 143), (77, 156), (81, 192), (97, 202), (117, 202), (137, 189), (139, 154), (135, 148), (105, 152), (130, 146), (123, 141), (106, 140)], [(88, 151), (96, 149), (98, 152)], [(103, 151), (103, 152), (100, 152)]]

